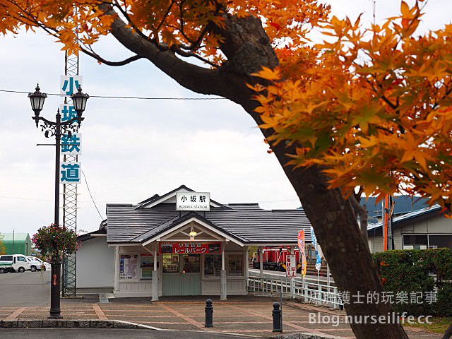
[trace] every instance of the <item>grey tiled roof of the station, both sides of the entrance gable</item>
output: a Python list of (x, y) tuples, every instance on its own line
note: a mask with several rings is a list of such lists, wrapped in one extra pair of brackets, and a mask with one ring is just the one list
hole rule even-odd
[[(174, 203), (152, 208), (139, 205), (107, 205), (107, 242), (137, 242), (174, 225), (190, 212), (175, 210)], [(310, 222), (304, 210), (263, 210), (258, 204), (233, 203), (198, 213), (211, 225), (241, 239), (244, 244), (296, 244), (299, 230), (310, 242)], [(192, 213), (192, 212), (191, 212)], [(196, 213), (194, 213), (196, 214)]]

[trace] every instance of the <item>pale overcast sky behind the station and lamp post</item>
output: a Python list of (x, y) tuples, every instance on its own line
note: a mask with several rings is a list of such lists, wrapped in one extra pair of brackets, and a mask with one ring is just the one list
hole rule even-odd
[[(333, 13), (352, 18), (371, 0), (331, 0)], [(398, 13), (396, 0), (377, 0), (376, 18)], [(450, 21), (451, 4), (430, 0), (425, 28)], [(61, 45), (43, 33), (0, 37), (0, 232), (28, 232), (53, 222), (54, 143), (35, 128), (27, 94), (59, 93), (64, 74)], [(128, 54), (105, 39), (99, 51), (120, 60)], [(146, 61), (121, 67), (81, 55), (85, 110), (78, 185), (78, 230), (97, 230), (106, 203), (137, 203), (185, 184), (208, 191), (220, 203), (259, 203), (262, 208), (297, 208), (299, 200), (263, 136), (241, 107), (227, 100), (132, 100), (117, 97), (201, 97), (185, 90)], [(63, 98), (49, 95), (42, 116), (54, 120)], [(62, 190), (61, 190), (62, 191)], [(62, 200), (62, 199), (61, 199)], [(60, 223), (62, 213), (60, 213)]]

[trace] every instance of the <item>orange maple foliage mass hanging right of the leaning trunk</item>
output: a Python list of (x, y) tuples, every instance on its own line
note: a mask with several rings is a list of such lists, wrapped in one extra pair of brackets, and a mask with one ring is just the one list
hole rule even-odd
[[(270, 140), (296, 143), (290, 164), (325, 168), (331, 187), (367, 196), (411, 194), (450, 209), (452, 25), (413, 37), (420, 3), (363, 30), (331, 18), (315, 64), (258, 75), (254, 86)], [(290, 60), (293, 62), (293, 59)], [(281, 81), (285, 79), (284, 81)]]

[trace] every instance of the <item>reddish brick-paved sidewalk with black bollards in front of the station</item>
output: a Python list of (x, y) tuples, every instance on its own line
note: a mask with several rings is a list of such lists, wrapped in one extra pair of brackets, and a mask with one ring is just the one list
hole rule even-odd
[[(109, 299), (99, 302), (97, 295), (83, 299), (61, 299), (61, 321), (48, 321), (49, 307), (0, 307), (0, 327), (127, 327), (138, 324), (151, 328), (216, 333), (237, 333), (257, 338), (277, 337), (273, 333), (273, 302), (279, 298), (233, 296), (213, 297), (213, 328), (205, 328), (204, 308), (208, 297), (161, 297)], [(311, 319), (311, 321), (309, 321)], [(315, 322), (312, 319), (316, 319)], [(326, 319), (340, 320), (337, 326)], [(439, 339), (440, 334), (406, 328), (410, 339)], [(312, 333), (319, 338), (355, 338), (345, 323), (345, 312), (314, 307), (295, 300), (283, 302), (283, 335)]]

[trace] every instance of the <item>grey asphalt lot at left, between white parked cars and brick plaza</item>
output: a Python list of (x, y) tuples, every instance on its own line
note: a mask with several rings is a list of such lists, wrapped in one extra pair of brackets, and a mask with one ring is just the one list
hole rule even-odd
[(0, 306), (50, 304), (50, 270), (0, 274)]

